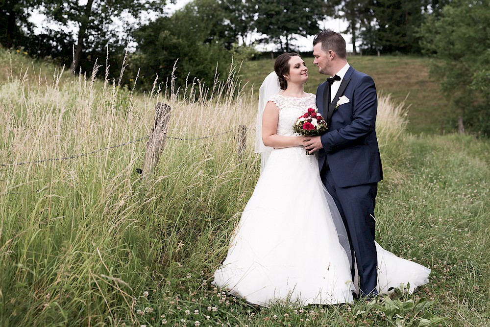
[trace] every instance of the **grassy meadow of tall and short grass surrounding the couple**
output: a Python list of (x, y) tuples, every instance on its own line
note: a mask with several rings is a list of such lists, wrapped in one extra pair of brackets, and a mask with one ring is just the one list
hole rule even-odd
[[(391, 59), (355, 60), (383, 76)], [(430, 283), (304, 308), (260, 308), (211, 285), (259, 176), (256, 85), (234, 78), (257, 63), (205, 99), (199, 85), (137, 93), (0, 50), (0, 326), (490, 326), (490, 143), (409, 132), (419, 106), (407, 111), (381, 81), (377, 240), (430, 267)], [(169, 139), (144, 180), (135, 169), (156, 102), (172, 107)]]

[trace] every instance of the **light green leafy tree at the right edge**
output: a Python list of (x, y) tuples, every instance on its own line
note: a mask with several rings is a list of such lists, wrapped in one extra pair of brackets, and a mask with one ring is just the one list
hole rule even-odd
[(431, 74), (466, 129), (490, 135), (490, 0), (454, 0), (421, 26), (421, 46), (438, 59)]

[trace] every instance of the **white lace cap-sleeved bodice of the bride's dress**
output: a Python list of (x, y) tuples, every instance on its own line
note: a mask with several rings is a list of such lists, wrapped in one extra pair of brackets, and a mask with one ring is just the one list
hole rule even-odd
[(296, 119), (306, 113), (308, 108), (316, 108), (315, 94), (308, 93), (304, 97), (272, 95), (269, 101), (274, 102), (279, 108), (279, 121), (277, 122), (277, 134), (283, 136), (298, 136), (294, 133), (293, 125)]

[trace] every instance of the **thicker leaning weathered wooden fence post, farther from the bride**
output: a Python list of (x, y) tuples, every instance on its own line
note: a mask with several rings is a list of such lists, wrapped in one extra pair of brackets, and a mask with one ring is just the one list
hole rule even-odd
[(143, 177), (151, 175), (160, 154), (165, 147), (165, 138), (167, 136), (167, 125), (170, 120), (170, 106), (161, 102), (155, 105), (155, 121), (153, 130), (147, 142), (147, 151), (145, 153), (145, 165), (143, 166)]

